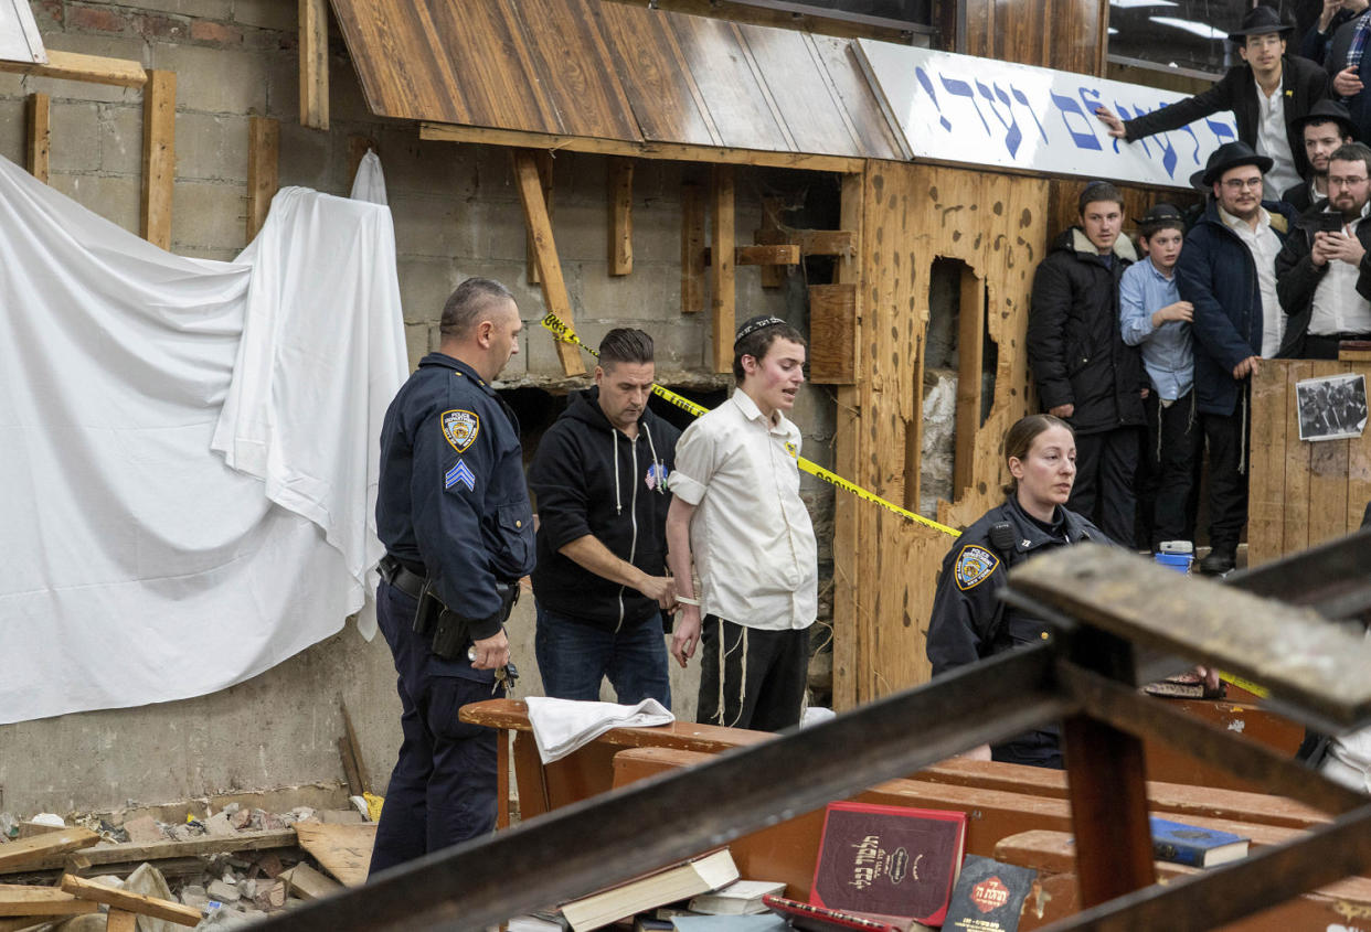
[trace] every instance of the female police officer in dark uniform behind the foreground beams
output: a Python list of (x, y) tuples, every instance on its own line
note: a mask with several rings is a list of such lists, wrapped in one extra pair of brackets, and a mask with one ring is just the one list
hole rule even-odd
[[(1010, 567), (1082, 540), (1109, 543), (1065, 508), (1076, 478), (1076, 440), (1065, 421), (1050, 414), (1021, 418), (1005, 434), (1005, 461), (1012, 476), (1008, 500), (967, 528), (943, 559), (928, 624), (934, 676), (1047, 637), (1046, 625), (997, 598)], [(1061, 768), (1058, 729), (1047, 725), (967, 757)]]

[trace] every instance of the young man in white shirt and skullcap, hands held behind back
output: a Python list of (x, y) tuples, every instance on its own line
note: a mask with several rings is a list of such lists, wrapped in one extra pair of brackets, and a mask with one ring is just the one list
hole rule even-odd
[[(799, 724), (809, 626), (818, 611), (814, 529), (799, 498), (805, 337), (755, 317), (733, 341), (733, 396), (676, 447), (666, 515), (680, 615), (672, 655), (701, 654), (696, 720), (780, 731)], [(695, 587), (691, 569), (698, 572)]]

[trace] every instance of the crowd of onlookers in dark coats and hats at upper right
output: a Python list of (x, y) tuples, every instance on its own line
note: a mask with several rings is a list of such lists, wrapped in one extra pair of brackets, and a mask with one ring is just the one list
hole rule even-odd
[(1252, 376), (1264, 359), (1337, 359), (1341, 341), (1371, 339), (1368, 4), (1326, 3), (1301, 56), (1291, 27), (1256, 7), (1228, 37), (1242, 64), (1209, 90), (1130, 121), (1097, 110), (1127, 141), (1223, 110), (1238, 129), (1190, 180), (1198, 211), (1126, 218), (1117, 188), (1086, 185), (1079, 225), (1034, 278), (1028, 362), (1043, 410), (1076, 434), (1069, 507), (1117, 543), (1196, 539), (1208, 450), (1201, 569), (1233, 569)]

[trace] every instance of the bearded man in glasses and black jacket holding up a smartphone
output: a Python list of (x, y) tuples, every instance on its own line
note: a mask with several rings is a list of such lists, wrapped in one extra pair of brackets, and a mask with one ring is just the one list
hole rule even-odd
[(1337, 359), (1342, 340), (1371, 339), (1368, 200), (1371, 148), (1349, 143), (1328, 158), (1328, 197), (1298, 217), (1276, 256), (1281, 356)]

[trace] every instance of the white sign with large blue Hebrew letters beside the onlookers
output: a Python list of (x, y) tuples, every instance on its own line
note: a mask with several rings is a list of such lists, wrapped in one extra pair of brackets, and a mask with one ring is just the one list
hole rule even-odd
[(1238, 138), (1231, 112), (1135, 143), (1094, 115), (1123, 119), (1185, 95), (1030, 64), (858, 40), (858, 59), (905, 156), (1189, 188), (1209, 154)]

